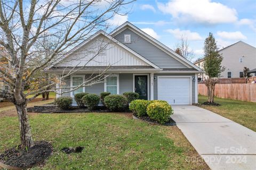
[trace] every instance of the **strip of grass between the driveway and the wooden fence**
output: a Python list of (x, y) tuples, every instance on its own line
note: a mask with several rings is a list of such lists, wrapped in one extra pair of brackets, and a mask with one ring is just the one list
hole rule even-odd
[[(198, 95), (198, 103), (202, 104), (204, 101), (207, 101), (207, 96)], [(216, 97), (214, 97), (214, 102), (221, 104), (221, 106), (201, 105), (201, 107), (227, 117), (256, 132), (256, 103)]]

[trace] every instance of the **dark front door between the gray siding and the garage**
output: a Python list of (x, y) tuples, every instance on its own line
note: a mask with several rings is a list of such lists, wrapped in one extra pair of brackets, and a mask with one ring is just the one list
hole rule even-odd
[(134, 91), (137, 92), (139, 99), (148, 99), (148, 76), (147, 75), (134, 75), (135, 86)]

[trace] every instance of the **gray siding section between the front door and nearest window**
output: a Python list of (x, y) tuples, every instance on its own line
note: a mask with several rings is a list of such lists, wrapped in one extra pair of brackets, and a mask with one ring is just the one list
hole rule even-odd
[(133, 74), (119, 74), (119, 94), (133, 91)]

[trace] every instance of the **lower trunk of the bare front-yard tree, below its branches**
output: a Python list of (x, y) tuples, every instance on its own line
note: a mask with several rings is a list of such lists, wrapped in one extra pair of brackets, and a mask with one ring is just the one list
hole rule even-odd
[(22, 103), (19, 105), (15, 105), (17, 109), (17, 113), (19, 116), (20, 122), (20, 141), (21, 141), (21, 148), (30, 148), (34, 146), (34, 140), (32, 138), (31, 128), (28, 121), (27, 115), (27, 104)]

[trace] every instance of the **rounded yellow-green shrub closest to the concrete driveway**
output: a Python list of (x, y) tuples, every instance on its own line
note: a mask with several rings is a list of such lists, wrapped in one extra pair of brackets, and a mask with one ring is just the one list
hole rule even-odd
[(147, 114), (158, 123), (166, 123), (172, 115), (172, 107), (163, 101), (154, 101), (147, 107)]

